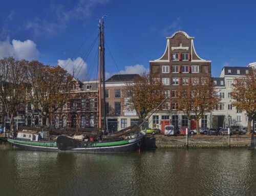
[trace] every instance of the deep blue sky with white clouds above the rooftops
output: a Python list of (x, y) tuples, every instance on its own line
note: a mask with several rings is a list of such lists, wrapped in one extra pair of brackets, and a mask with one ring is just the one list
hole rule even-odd
[[(0, 7), (0, 58), (14, 56), (60, 64), (80, 80), (95, 79), (97, 37), (104, 15), (107, 77), (148, 71), (162, 56), (166, 37), (185, 31), (197, 54), (211, 60), (212, 76), (223, 66), (256, 61), (255, 1), (8, 0)], [(82, 67), (80, 67), (83, 65)]]

